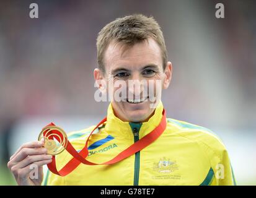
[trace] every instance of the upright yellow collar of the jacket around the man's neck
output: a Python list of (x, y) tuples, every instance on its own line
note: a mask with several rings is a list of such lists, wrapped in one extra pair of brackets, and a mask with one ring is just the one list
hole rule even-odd
[[(149, 134), (149, 132), (158, 126), (162, 119), (163, 108), (162, 101), (159, 101), (151, 118), (149, 118), (147, 122), (139, 124), (139, 139)], [(138, 126), (138, 123), (134, 124), (121, 121), (121, 119), (117, 118), (117, 116), (115, 116), (113, 113), (112, 103), (110, 103), (107, 110), (107, 123), (105, 124), (105, 131), (112, 134), (114, 137), (118, 137), (118, 139), (130, 139), (131, 142), (133, 142), (134, 135), (131, 126)]]

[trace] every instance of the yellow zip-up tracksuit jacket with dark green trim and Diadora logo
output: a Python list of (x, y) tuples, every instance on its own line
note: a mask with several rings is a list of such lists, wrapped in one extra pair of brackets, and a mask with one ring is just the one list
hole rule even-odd
[[(160, 101), (145, 123), (118, 119), (108, 106), (107, 122), (89, 139), (87, 160), (103, 163), (151, 132), (161, 121)], [(79, 151), (95, 126), (71, 132), (68, 139)], [(70, 159), (66, 150), (56, 156), (60, 170)], [(205, 127), (167, 118), (167, 127), (151, 145), (113, 165), (80, 164), (61, 177), (47, 171), (44, 185), (236, 185), (223, 142)]]

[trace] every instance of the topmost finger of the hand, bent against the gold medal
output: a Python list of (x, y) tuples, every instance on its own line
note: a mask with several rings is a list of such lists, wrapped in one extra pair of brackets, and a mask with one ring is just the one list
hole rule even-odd
[(17, 163), (21, 160), (24, 160), (29, 155), (42, 155), (46, 153), (47, 153), (47, 149), (45, 148), (36, 148), (36, 149), (25, 148), (25, 149), (21, 149), (20, 152), (17, 153), (17, 155), (11, 161), (12, 163)]

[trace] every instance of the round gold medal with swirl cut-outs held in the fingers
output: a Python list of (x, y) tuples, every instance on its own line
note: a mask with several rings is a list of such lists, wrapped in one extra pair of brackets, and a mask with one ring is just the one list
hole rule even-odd
[(47, 154), (50, 155), (60, 154), (68, 145), (66, 132), (58, 126), (44, 127), (38, 136), (38, 141), (40, 140), (44, 140), (43, 147), (47, 149)]

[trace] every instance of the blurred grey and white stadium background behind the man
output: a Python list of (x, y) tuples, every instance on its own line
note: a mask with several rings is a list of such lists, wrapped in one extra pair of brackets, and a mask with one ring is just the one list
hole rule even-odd
[[(39, 19), (30, 19), (36, 2)], [(225, 19), (216, 19), (222, 2)], [(20, 144), (54, 121), (66, 131), (98, 123), (97, 33), (128, 14), (152, 15), (174, 66), (162, 101), (170, 118), (223, 139), (239, 185), (256, 184), (256, 1), (0, 1), (0, 185)]]

